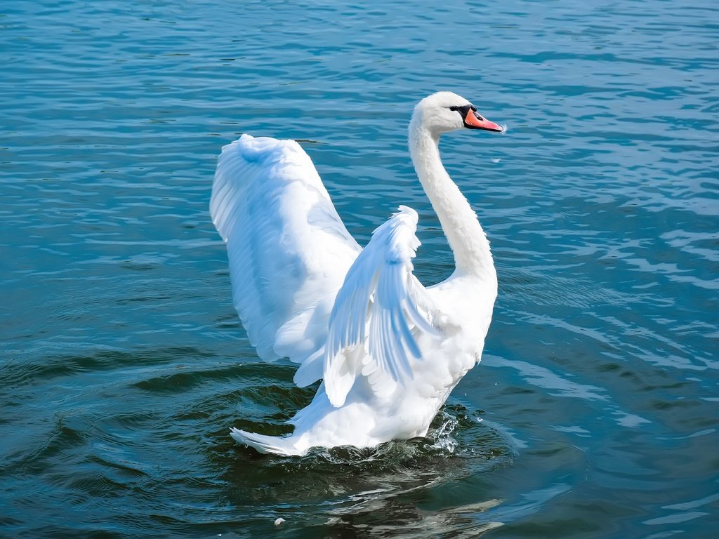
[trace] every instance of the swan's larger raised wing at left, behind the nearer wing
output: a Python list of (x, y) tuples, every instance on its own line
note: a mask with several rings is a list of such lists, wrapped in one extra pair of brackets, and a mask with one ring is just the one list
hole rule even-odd
[(304, 362), (303, 385), (321, 378), (334, 296), (361, 249), (309, 156), (293, 140), (242, 135), (222, 148), (210, 213), (257, 354)]

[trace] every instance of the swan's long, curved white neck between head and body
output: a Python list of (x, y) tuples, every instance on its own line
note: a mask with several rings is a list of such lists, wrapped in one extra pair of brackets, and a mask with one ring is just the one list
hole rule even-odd
[(457, 274), (496, 278), (490, 242), (477, 214), (444, 170), (439, 156), (439, 136), (431, 134), (421, 121), (413, 118), (409, 147), (419, 181), (454, 253)]

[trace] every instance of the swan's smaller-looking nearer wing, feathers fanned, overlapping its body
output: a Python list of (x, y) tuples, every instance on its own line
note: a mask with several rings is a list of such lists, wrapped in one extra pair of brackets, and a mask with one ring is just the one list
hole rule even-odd
[(358, 374), (378, 392), (411, 379), (411, 358), (421, 359), (418, 333), (439, 334), (431, 300), (412, 274), (417, 213), (399, 210), (372, 234), (336, 296), (324, 354), (325, 389), (335, 406)]

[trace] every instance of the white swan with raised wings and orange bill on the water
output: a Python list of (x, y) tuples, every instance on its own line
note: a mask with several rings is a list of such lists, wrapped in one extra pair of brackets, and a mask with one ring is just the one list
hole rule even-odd
[(452, 276), (431, 287), (413, 275), (413, 209), (399, 206), (362, 249), (297, 142), (244, 134), (222, 148), (210, 213), (249, 342), (266, 361), (300, 364), (298, 386), (322, 380), (288, 421), (293, 433), (232, 428), (236, 441), (301, 456), (425, 436), (480, 361), (497, 274), (477, 214), (441, 163), (439, 136), (459, 129), (504, 130), (447, 91), (420, 101), (409, 124), (413, 165), (454, 254)]

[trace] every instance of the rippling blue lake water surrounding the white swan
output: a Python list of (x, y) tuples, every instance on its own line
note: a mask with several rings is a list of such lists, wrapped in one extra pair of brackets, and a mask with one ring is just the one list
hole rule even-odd
[[(13, 1), (0, 9), (0, 535), (691, 538), (719, 525), (719, 10), (710, 1)], [(500, 295), (430, 438), (259, 456), (263, 364), (207, 206), (242, 132), (303, 139), (360, 243), (444, 160)], [(283, 517), (282, 528), (275, 518)]]

